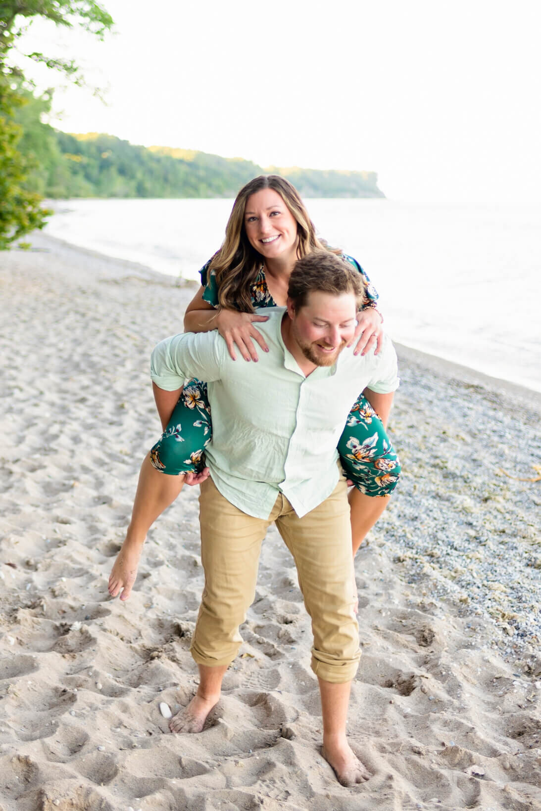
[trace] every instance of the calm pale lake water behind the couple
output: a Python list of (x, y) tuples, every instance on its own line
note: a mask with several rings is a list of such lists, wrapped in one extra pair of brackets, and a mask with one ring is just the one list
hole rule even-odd
[[(400, 343), (541, 391), (541, 204), (307, 200), (319, 234), (362, 264)], [(46, 230), (197, 278), (232, 200), (69, 200)]]

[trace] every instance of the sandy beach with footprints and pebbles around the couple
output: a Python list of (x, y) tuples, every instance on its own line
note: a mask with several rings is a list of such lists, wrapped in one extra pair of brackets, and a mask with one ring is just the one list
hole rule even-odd
[[(198, 491), (107, 578), (159, 433), (149, 354), (195, 287), (37, 234), (0, 255), (0, 811), (541, 809), (541, 395), (398, 347), (403, 478), (356, 559), (363, 655), (319, 753), (310, 625), (279, 534), (223, 699), (188, 703), (203, 585)], [(520, 363), (520, 358), (517, 358)]]

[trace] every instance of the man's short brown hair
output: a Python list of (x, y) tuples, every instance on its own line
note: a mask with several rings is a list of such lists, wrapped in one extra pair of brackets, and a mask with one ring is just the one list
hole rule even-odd
[(298, 311), (304, 307), (312, 292), (335, 296), (353, 293), (360, 309), (365, 285), (361, 274), (340, 256), (329, 251), (311, 251), (296, 261), (289, 278), (288, 298), (292, 300), (293, 309)]

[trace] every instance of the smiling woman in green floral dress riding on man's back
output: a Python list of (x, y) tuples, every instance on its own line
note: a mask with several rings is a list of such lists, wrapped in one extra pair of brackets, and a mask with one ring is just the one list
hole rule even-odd
[[(254, 324), (266, 316), (256, 315), (254, 307), (285, 306), (296, 260), (317, 249), (341, 255), (318, 240), (290, 182), (278, 175), (254, 178), (236, 196), (222, 247), (201, 270), (202, 285), (187, 307), (185, 331), (218, 329), (233, 359), (238, 351), (245, 361), (257, 363), (255, 345), (266, 351), (266, 344)], [(362, 273), (356, 260), (347, 255), (344, 260)], [(355, 354), (377, 351), (382, 335), (377, 294), (366, 277), (365, 281)], [(123, 590), (123, 600), (132, 590), (149, 527), (172, 504), (184, 482), (201, 483), (208, 475), (208, 468), (201, 470), (212, 428), (205, 384), (190, 380), (176, 392), (154, 385), (154, 397), (164, 433), (141, 466), (132, 521), (109, 582), (110, 594)], [(338, 445), (340, 461), (354, 485), (349, 494), (353, 555), (383, 513), (400, 474), (385, 432), (387, 418), (388, 407), (383, 410), (378, 394), (360, 394)]]

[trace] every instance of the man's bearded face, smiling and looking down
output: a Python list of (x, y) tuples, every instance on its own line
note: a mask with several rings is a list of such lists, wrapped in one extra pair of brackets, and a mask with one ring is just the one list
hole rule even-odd
[(332, 366), (357, 327), (357, 301), (353, 293), (309, 293), (304, 307), (293, 311), (291, 335), (302, 353), (316, 366)]

